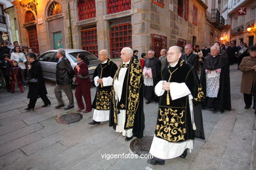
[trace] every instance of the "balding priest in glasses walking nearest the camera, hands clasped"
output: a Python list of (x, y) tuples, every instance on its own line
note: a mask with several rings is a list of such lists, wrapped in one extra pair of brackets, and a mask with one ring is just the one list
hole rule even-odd
[[(163, 165), (165, 160), (186, 158), (193, 148), (194, 137), (204, 138), (202, 112), (194, 114), (193, 105), (203, 98), (196, 69), (181, 59), (181, 48), (171, 46), (167, 52), (168, 67), (156, 85), (155, 93), (160, 97), (158, 119), (148, 160), (152, 165)], [(201, 114), (201, 115), (200, 115)], [(196, 128), (202, 131), (196, 135)]]

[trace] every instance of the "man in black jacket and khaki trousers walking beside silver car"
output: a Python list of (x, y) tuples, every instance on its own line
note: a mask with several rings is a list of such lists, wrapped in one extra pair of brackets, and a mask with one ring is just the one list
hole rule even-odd
[(60, 107), (64, 107), (64, 103), (62, 100), (62, 92), (63, 90), (68, 100), (70, 101), (68, 106), (65, 107), (65, 110), (74, 108), (74, 96), (72, 92), (72, 78), (74, 76), (73, 69), (70, 65), (70, 61), (68, 61), (68, 58), (66, 58), (66, 52), (62, 48), (58, 49), (57, 52), (57, 66), (56, 66), (56, 83), (57, 86), (54, 88), (54, 93), (56, 96), (56, 99), (58, 100), (58, 106), (56, 106), (56, 109), (59, 109)]

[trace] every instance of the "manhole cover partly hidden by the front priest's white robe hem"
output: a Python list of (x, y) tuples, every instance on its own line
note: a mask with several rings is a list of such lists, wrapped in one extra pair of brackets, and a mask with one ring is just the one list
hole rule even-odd
[(139, 156), (142, 154), (148, 154), (148, 152), (150, 151), (150, 146), (152, 141), (153, 141), (153, 136), (145, 136), (145, 137), (142, 137), (141, 139), (135, 139), (131, 141), (130, 143), (131, 152)]

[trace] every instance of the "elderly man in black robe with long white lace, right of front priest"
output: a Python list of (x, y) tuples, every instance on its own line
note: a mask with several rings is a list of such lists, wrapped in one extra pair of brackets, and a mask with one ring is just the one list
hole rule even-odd
[(206, 95), (202, 103), (203, 108), (231, 110), (230, 76), (226, 65), (226, 57), (221, 54), (218, 45), (211, 47), (211, 54), (203, 61), (200, 81)]

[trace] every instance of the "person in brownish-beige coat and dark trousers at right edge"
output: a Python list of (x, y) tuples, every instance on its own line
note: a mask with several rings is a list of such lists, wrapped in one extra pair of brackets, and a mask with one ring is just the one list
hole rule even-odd
[(249, 48), (249, 55), (242, 59), (239, 69), (243, 72), (241, 82), (241, 92), (244, 93), (245, 109), (249, 109), (252, 104), (252, 91), (256, 82), (256, 46)]

